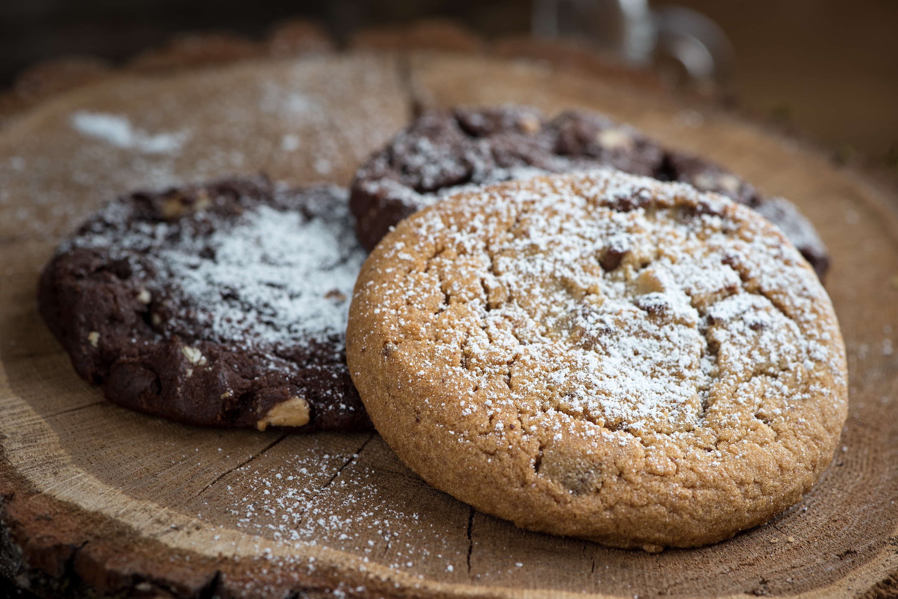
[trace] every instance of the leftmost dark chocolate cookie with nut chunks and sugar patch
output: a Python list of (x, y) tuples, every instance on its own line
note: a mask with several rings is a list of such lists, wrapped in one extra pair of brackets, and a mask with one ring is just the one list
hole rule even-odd
[(107, 204), (57, 249), (40, 314), (110, 401), (209, 426), (370, 428), (349, 378), (365, 250), (347, 195), (230, 179)]

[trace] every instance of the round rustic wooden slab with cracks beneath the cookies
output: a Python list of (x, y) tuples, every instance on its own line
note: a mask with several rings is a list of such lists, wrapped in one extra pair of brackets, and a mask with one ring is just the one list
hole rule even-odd
[[(346, 184), (416, 106), (504, 101), (602, 110), (814, 221), (832, 250), (850, 415), (797, 506), (725, 543), (657, 555), (528, 533), (431, 489), (376, 434), (204, 430), (109, 404), (40, 321), (41, 266), (112, 195), (259, 169)], [(78, 134), (79, 110), (128, 117), (132, 142), (172, 134), (180, 147)], [(542, 62), (318, 56), (59, 95), (0, 132), (0, 570), (42, 595), (895, 596), (895, 202), (725, 111)]]

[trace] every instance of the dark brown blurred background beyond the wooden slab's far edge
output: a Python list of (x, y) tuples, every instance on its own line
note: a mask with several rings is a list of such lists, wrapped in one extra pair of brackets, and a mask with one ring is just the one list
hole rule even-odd
[(488, 41), (588, 39), (621, 61), (654, 63), (671, 85), (701, 91), (711, 82), (739, 108), (826, 144), (836, 160), (865, 156), (898, 173), (898, 2), (676, 4), (688, 10), (648, 0), (0, 0), (0, 89), (43, 59), (92, 55), (115, 66), (184, 31), (262, 39), (278, 22), (305, 18), (346, 46), (361, 30), (443, 17)]

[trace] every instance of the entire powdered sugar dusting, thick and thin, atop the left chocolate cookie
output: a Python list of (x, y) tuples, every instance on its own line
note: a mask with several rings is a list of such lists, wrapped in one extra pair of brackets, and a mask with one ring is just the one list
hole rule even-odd
[(192, 225), (131, 221), (128, 204), (112, 202), (61, 251), (104, 247), (128, 260), (154, 305), (169, 307), (167, 334), (260, 348), (339, 340), (339, 352), (365, 250), (345, 190), (316, 193), (302, 210), (250, 204), (230, 218), (198, 213)]

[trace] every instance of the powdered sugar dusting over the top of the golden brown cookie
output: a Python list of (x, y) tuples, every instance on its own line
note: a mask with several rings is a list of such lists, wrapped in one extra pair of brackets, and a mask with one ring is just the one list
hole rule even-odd
[[(840, 356), (818, 343), (838, 328), (815, 322), (829, 300), (814, 273), (721, 196), (594, 171), (447, 202), (418, 219), (424, 245), (389, 256), (443, 247), (425, 267), (445, 294), (429, 317), (437, 341), (414, 368), (462, 355), (452, 369), (474, 390), (462, 415), (492, 421), (506, 405), (525, 430), (682, 434), (715, 405), (754, 413), (755, 378), (779, 381), (780, 411), (814, 372), (844, 383)], [(420, 293), (411, 277), (396, 284)], [(397, 313), (401, 331), (409, 314)]]

